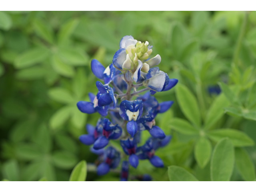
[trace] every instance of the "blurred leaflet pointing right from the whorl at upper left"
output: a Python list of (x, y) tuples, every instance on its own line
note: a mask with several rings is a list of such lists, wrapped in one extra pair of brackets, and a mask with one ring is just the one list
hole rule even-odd
[(68, 65), (84, 66), (89, 61), (89, 57), (84, 51), (74, 48), (60, 48), (59, 56)]

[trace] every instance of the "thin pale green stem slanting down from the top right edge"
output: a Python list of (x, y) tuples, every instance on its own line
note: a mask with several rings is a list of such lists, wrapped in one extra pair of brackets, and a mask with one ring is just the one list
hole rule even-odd
[(246, 26), (247, 26), (247, 23), (248, 23), (248, 15), (249, 15), (249, 12), (246, 11), (245, 15), (244, 15), (244, 21), (242, 23), (242, 27), (240, 29), (239, 36), (238, 36), (238, 39), (237, 39), (237, 42), (236, 42), (234, 56), (233, 56), (233, 63), (235, 65), (238, 65), (239, 52), (240, 52), (240, 49), (241, 49), (241, 46), (242, 46), (242, 40), (243, 40), (243, 38), (245, 36), (245, 32), (246, 32)]

